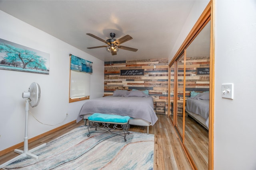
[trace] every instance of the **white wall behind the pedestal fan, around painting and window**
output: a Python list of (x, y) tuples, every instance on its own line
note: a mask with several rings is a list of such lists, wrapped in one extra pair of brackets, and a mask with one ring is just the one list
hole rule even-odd
[(28, 91), (32, 82), (40, 85), (41, 98), (37, 107), (30, 107), (30, 112), (42, 123), (54, 126), (42, 125), (29, 114), (29, 138), (75, 120), (84, 103), (68, 103), (69, 54), (93, 62), (91, 99), (104, 94), (104, 62), (2, 11), (0, 23), (1, 39), (50, 54), (49, 75), (0, 70), (0, 150), (4, 150), (24, 141), (22, 92)]

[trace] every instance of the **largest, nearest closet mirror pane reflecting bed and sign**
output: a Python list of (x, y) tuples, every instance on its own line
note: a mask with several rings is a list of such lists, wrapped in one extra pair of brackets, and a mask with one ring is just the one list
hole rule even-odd
[(186, 113), (184, 145), (198, 169), (208, 169), (210, 21), (186, 53)]

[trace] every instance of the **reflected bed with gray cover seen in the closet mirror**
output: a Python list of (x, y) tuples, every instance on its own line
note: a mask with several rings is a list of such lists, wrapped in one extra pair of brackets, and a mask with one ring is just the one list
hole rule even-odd
[(198, 123), (209, 129), (209, 92), (198, 93), (186, 101), (186, 112)]

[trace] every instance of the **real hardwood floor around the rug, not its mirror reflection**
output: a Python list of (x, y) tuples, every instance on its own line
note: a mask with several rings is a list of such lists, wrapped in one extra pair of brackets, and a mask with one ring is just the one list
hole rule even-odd
[[(154, 144), (154, 170), (191, 170), (186, 154), (184, 153), (177, 138), (174, 127), (171, 125), (167, 115), (158, 114), (158, 121), (153, 127), (149, 128), (149, 133), (155, 135)], [(52, 139), (63, 135), (64, 133), (84, 125), (84, 121), (73, 123), (60, 131), (46, 135), (32, 143), (29, 143), (28, 149), (32, 149), (43, 143), (50, 142)], [(146, 133), (146, 127), (131, 125), (130, 131)], [(23, 148), (20, 148), (23, 150)], [(8, 152), (0, 156), (0, 164), (18, 156), (15, 152)]]

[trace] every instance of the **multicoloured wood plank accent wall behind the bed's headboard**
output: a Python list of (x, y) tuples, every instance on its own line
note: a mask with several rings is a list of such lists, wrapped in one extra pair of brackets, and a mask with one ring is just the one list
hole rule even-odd
[[(120, 76), (120, 70), (132, 69), (144, 69), (144, 75)], [(132, 89), (148, 90), (154, 102), (165, 102), (167, 109), (168, 59), (114, 61), (111, 65), (110, 62), (105, 62), (104, 96), (112, 95), (114, 90)], [(162, 107), (156, 109), (162, 109)]]

